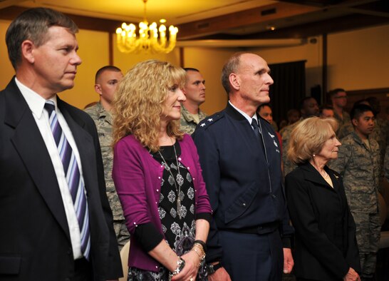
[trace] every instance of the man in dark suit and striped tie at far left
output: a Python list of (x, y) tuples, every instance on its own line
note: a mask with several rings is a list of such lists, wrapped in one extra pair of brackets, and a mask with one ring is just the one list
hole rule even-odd
[(16, 76), (0, 92), (0, 280), (123, 275), (92, 119), (73, 88), (76, 24), (29, 9), (6, 32)]

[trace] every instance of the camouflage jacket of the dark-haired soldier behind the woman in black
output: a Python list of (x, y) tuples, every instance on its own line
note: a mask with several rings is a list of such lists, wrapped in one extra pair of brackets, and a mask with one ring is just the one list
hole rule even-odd
[(377, 141), (369, 138), (369, 149), (354, 131), (342, 138), (341, 143), (338, 158), (329, 165), (343, 177), (351, 211), (378, 213), (380, 149)]

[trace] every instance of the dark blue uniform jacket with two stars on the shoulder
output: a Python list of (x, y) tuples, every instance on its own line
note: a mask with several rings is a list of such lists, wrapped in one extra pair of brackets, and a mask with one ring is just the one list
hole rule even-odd
[(217, 230), (257, 227), (261, 233), (267, 224), (278, 222), (284, 247), (289, 247), (293, 228), (282, 183), (280, 145), (263, 118), (259, 126), (266, 151), (247, 119), (230, 104), (200, 122), (192, 135), (214, 210), (208, 261), (222, 256)]

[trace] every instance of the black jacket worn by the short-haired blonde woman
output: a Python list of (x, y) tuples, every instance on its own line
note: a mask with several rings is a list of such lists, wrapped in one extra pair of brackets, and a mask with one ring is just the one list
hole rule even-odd
[(349, 267), (361, 272), (356, 224), (340, 175), (325, 170), (333, 188), (310, 163), (286, 175), (286, 197), (296, 232), (295, 271), (306, 279), (342, 280)]

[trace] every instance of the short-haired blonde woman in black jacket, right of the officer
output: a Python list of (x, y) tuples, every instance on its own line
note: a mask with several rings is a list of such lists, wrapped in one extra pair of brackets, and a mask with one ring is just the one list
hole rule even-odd
[(297, 280), (361, 280), (356, 225), (340, 175), (326, 166), (338, 157), (337, 127), (312, 117), (291, 133), (287, 156), (298, 167), (285, 182)]

